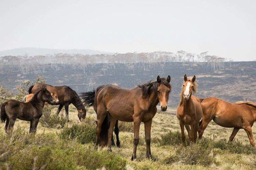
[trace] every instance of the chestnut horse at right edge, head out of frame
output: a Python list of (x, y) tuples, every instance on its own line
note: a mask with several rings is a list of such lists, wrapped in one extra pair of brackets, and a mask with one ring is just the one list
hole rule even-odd
[(199, 139), (202, 138), (203, 132), (209, 122), (213, 120), (225, 128), (234, 128), (229, 142), (236, 136), (239, 129), (244, 129), (248, 135), (250, 143), (255, 147), (252, 126), (256, 121), (256, 104), (247, 102), (230, 103), (217, 98), (202, 99), (201, 106), (203, 109), (203, 119), (200, 122), (198, 130)]

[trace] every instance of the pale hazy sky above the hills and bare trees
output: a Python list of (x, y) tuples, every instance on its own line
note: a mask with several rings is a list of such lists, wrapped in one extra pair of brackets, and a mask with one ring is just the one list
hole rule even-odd
[(0, 50), (185, 50), (256, 60), (255, 0), (0, 0), (0, 24)]

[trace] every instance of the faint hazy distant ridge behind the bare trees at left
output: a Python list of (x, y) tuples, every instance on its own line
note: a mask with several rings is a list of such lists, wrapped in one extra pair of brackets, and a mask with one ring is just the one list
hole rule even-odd
[(26, 48), (15, 48), (10, 50), (3, 50), (0, 51), (0, 57), (2, 56), (18, 56), (18, 55), (28, 55), (28, 56), (35, 56), (35, 55), (53, 55), (53, 54), (114, 54), (111, 52), (105, 51), (98, 51), (98, 50), (91, 50), (91, 49), (48, 49), (48, 48), (33, 48), (33, 47), (26, 47)]

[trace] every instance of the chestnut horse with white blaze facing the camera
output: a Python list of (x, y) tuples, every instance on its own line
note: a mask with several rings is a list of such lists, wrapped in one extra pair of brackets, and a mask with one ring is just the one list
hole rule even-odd
[[(199, 122), (202, 118), (202, 108), (200, 99), (192, 95), (192, 92), (197, 91), (196, 76), (191, 80), (187, 80), (187, 75), (184, 75), (184, 83), (181, 90), (181, 99), (177, 107), (176, 116), (180, 121), (182, 142), (185, 145), (184, 125), (188, 132), (188, 137), (191, 142), (196, 142)], [(191, 130), (190, 130), (190, 127)]]

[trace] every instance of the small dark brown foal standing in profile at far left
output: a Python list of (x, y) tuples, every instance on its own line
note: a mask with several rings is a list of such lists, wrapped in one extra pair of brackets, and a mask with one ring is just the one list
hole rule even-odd
[(50, 92), (43, 86), (28, 103), (9, 100), (1, 105), (1, 122), (6, 120), (5, 132), (12, 130), (15, 120), (30, 121), (29, 133), (37, 131), (37, 124), (43, 114), (44, 103), (55, 104)]

